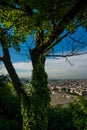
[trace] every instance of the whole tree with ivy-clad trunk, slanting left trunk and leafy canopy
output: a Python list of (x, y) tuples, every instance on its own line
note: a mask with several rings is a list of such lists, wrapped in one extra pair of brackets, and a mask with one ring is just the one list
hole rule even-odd
[[(0, 60), (3, 61), (19, 97), (23, 97), (22, 101), (26, 106), (27, 112), (25, 117), (27, 115), (26, 118), (29, 120), (32, 119), (32, 115), (34, 115), (32, 121), (34, 128), (31, 128), (32, 130), (43, 129), (41, 120), (47, 120), (47, 114), (45, 114), (46, 118), (43, 118), (44, 115), (41, 112), (43, 110), (43, 113), (46, 113), (50, 101), (49, 91), (47, 89), (47, 75), (44, 70), (46, 53), (56, 44), (59, 44), (68, 34), (73, 33), (79, 26), (86, 28), (86, 8), (87, 1), (85, 0), (62, 0), (62, 2), (60, 0), (10, 0), (9, 3), (5, 0), (1, 0), (0, 2), (0, 43), (3, 50), (3, 57), (0, 57)], [(65, 34), (63, 33), (64, 31), (66, 32)], [(8, 48), (14, 47), (19, 51), (19, 43), (25, 42), (31, 33), (36, 35), (35, 45), (29, 49), (33, 66), (31, 92), (38, 96), (37, 90), (40, 89), (41, 91), (39, 92), (43, 93), (44, 97), (47, 92), (49, 99), (46, 100), (46, 98), (39, 95), (40, 97), (36, 98), (36, 100), (40, 98), (43, 100), (43, 103), (41, 102), (39, 104), (40, 107), (37, 109), (34, 107), (34, 103), (32, 103), (32, 101), (34, 102), (35, 100), (33, 94), (29, 97), (22, 87), (12, 65), (8, 50)], [(74, 54), (68, 54), (68, 56), (71, 55)], [(66, 56), (67, 55), (64, 55), (64, 57)], [(38, 73), (39, 76), (37, 75)], [(42, 74), (45, 76), (44, 78)], [(40, 84), (41, 80), (43, 84)], [(43, 89), (44, 86), (46, 87), (45, 90)], [(30, 115), (28, 111), (32, 108), (33, 112), (32, 115)], [(37, 120), (40, 120), (38, 123), (35, 121), (36, 115), (38, 117)], [(31, 121), (29, 120), (29, 124), (25, 125), (24, 129), (29, 129), (30, 125)], [(47, 121), (44, 122), (44, 126), (47, 126)], [(45, 127), (44, 130), (46, 128), (47, 127)]]

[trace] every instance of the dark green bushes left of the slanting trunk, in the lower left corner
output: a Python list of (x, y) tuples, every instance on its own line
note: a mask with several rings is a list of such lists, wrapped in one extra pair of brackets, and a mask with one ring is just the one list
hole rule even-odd
[(19, 99), (7, 78), (0, 77), (0, 130), (21, 130)]

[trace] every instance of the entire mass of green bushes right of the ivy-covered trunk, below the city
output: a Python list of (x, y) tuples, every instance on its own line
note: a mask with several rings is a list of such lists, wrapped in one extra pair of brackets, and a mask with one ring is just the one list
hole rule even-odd
[(50, 107), (48, 113), (48, 130), (87, 130), (87, 100), (83, 97), (67, 107)]

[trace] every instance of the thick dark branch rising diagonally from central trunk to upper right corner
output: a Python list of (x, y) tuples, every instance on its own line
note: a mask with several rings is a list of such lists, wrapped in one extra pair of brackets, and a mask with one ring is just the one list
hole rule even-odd
[(72, 7), (72, 9), (63, 16), (62, 20), (60, 21), (59, 25), (53, 30), (51, 35), (47, 37), (42, 46), (37, 48), (37, 52), (40, 54), (43, 53), (51, 44), (52, 42), (58, 37), (65, 29), (66, 25), (70, 23), (71, 20), (87, 5), (86, 0), (78, 0), (78, 2)]

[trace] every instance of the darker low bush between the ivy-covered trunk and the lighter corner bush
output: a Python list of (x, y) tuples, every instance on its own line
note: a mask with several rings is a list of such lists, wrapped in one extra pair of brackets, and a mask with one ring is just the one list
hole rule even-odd
[(73, 125), (71, 113), (67, 107), (50, 107), (48, 117), (48, 130), (77, 130)]

